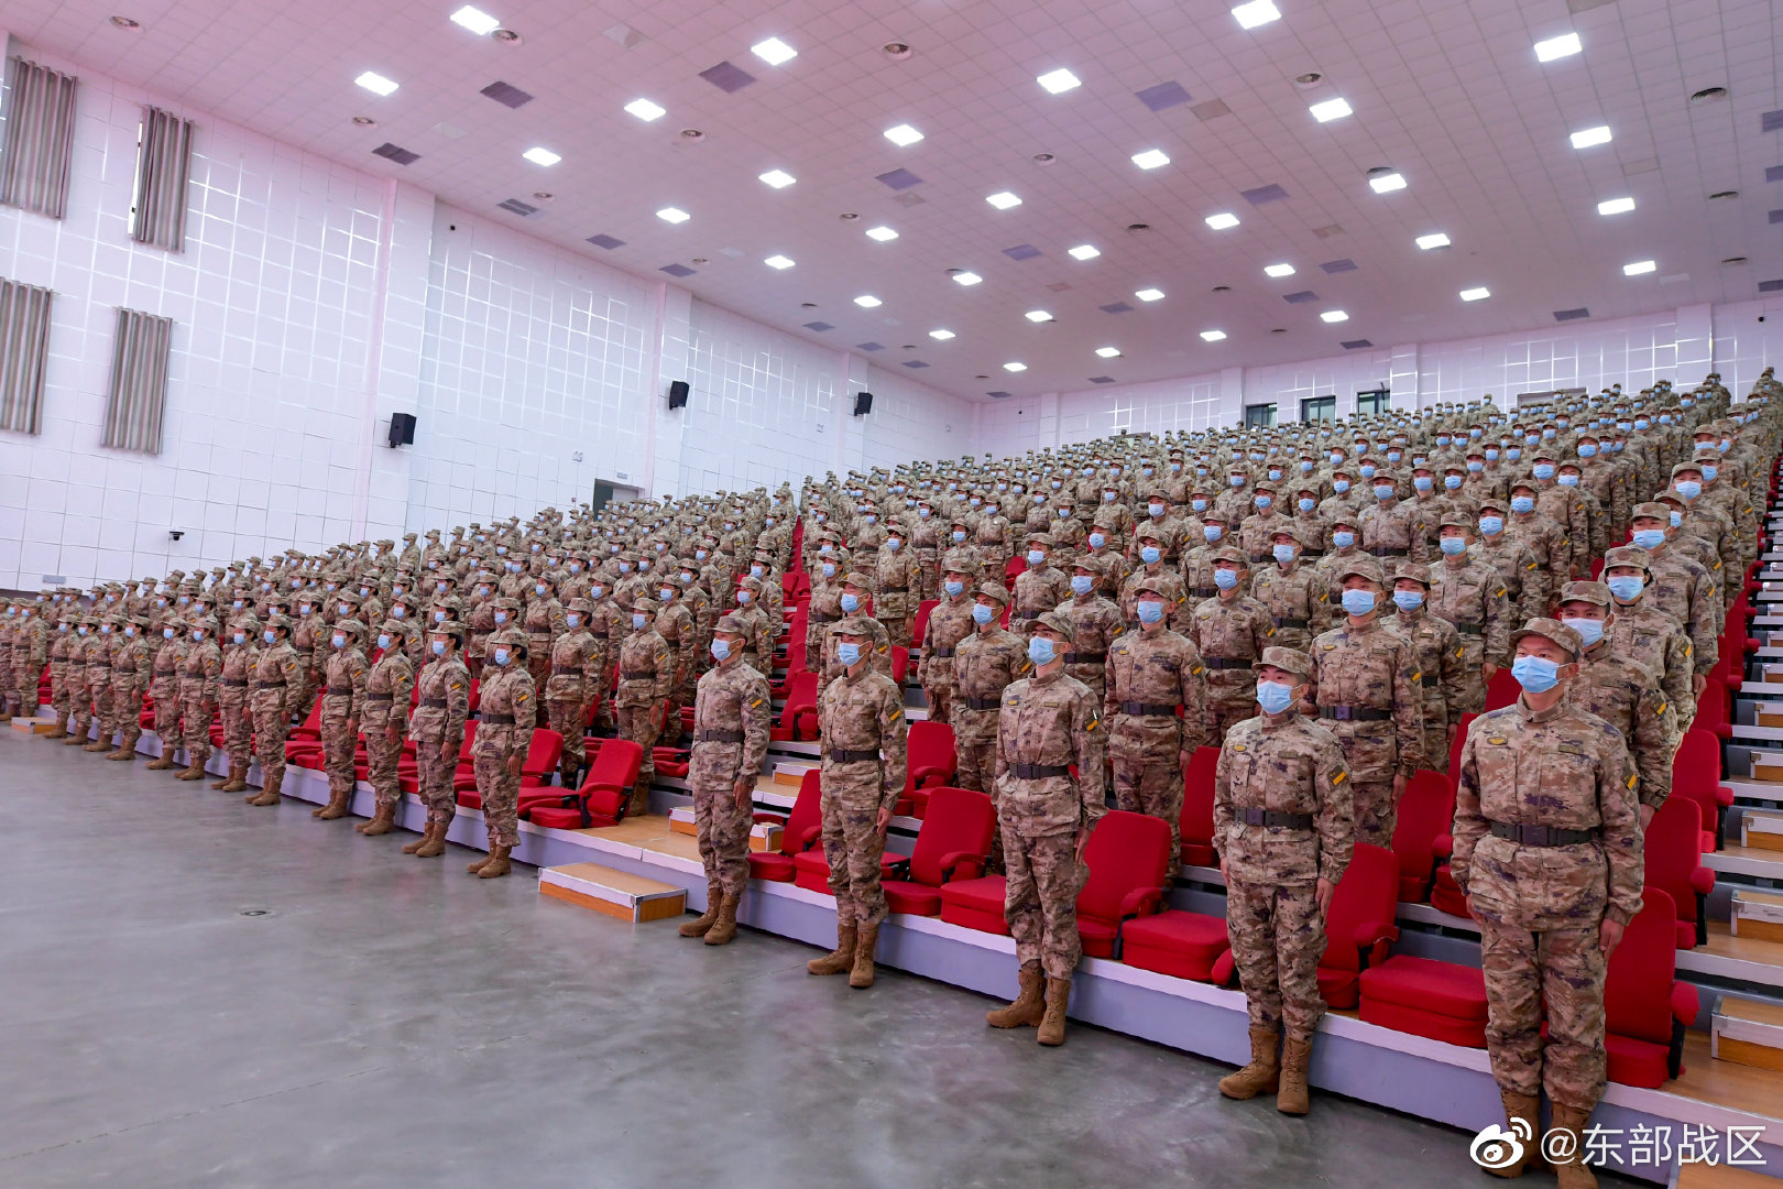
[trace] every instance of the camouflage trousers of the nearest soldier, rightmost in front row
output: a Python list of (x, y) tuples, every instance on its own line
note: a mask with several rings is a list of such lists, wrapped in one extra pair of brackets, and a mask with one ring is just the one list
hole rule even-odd
[[(1603, 1098), (1603, 975), (1598, 927), (1530, 932), (1480, 922), (1485, 1048), (1492, 1078), (1517, 1095), (1590, 1111)], [(1548, 1041), (1542, 1043), (1542, 1002)]]

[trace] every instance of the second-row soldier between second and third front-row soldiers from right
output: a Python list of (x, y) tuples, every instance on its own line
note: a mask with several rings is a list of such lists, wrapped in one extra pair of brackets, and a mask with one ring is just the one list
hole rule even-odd
[(1114, 804), (1168, 822), (1171, 856), (1180, 850), (1182, 774), (1195, 749), (1209, 742), (1202, 654), (1164, 624), (1164, 608), (1180, 590), (1171, 574), (1139, 585), (1139, 627), (1109, 645), (1102, 697)]

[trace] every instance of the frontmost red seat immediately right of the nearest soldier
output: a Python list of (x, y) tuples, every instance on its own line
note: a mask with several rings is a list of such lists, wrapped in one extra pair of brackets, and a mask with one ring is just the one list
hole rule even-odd
[(1680, 982), (1672, 922), (1678, 907), (1660, 888), (1646, 888), (1642, 907), (1610, 955), (1603, 986), (1610, 1080), (1658, 1089), (1683, 1073), (1683, 1034), (1701, 1002)]

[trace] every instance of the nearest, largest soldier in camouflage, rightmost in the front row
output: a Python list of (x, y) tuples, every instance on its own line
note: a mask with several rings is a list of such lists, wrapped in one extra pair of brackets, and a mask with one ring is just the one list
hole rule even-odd
[[(1450, 870), (1480, 922), (1485, 1046), (1507, 1119), (1541, 1134), (1546, 1086), (1551, 1130), (1573, 1137), (1555, 1173), (1562, 1189), (1587, 1189), (1598, 1184), (1580, 1153), (1605, 1084), (1603, 979), (1640, 911), (1640, 779), (1615, 727), (1567, 704), (1578, 633), (1533, 619), (1514, 649), (1523, 695), (1475, 718), (1462, 745)], [(1498, 1175), (1521, 1173), (1523, 1160)]]

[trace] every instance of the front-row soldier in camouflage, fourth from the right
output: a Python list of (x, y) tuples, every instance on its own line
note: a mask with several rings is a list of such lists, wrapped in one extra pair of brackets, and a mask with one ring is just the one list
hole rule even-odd
[(850, 988), (874, 984), (874, 950), (886, 897), (879, 857), (892, 808), (904, 795), (909, 724), (904, 695), (868, 661), (872, 629), (849, 617), (838, 626), (843, 674), (818, 702), (822, 736), (824, 859), (836, 897), (836, 948), (806, 963), (813, 975), (849, 973)]

